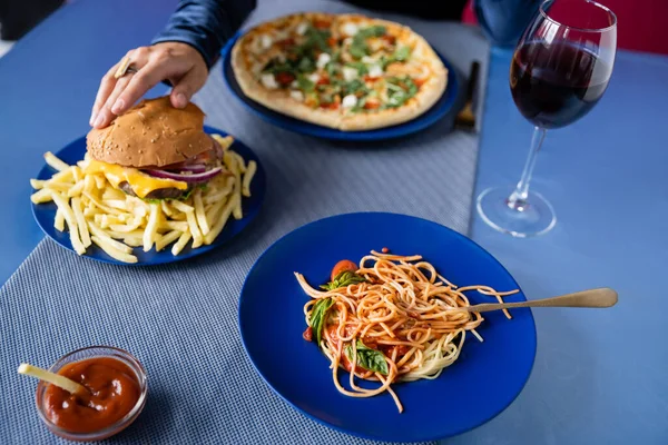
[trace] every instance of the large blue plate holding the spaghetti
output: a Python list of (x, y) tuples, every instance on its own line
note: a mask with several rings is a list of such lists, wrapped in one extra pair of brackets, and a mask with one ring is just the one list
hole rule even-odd
[[(490, 254), (469, 238), (431, 222), (394, 214), (340, 215), (303, 226), (269, 247), (250, 269), (239, 301), (244, 347), (266, 383), (295, 408), (335, 429), (390, 442), (436, 441), (490, 421), (520, 394), (533, 366), (536, 326), (530, 309), (500, 312), (466, 342), (459, 359), (433, 380), (395, 384), (404, 412), (385, 393), (371, 398), (340, 394), (330, 360), (302, 338), (308, 300), (293, 273), (312, 286), (328, 281), (340, 259), (357, 261), (372, 249), (420, 254), (454, 284), (484, 284), (498, 290), (519, 288)], [(471, 303), (490, 303), (474, 297)], [(524, 301), (522, 293), (505, 297)], [(347, 386), (347, 373), (340, 373)]]

